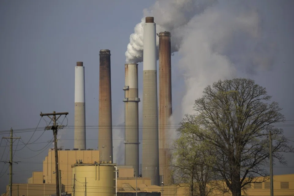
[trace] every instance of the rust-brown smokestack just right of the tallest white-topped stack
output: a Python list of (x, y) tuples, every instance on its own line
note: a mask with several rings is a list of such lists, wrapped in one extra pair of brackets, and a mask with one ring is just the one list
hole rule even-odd
[(159, 168), (164, 184), (173, 184), (169, 161), (171, 153), (166, 140), (171, 107), (171, 33), (160, 32), (159, 36)]

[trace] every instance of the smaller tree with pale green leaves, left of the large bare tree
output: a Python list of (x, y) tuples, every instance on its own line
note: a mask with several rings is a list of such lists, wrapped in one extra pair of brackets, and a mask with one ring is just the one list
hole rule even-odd
[(213, 189), (213, 151), (194, 134), (198, 126), (193, 115), (186, 115), (180, 124), (177, 130), (180, 137), (173, 144), (171, 164), (175, 181), (189, 187), (187, 195), (206, 196)]

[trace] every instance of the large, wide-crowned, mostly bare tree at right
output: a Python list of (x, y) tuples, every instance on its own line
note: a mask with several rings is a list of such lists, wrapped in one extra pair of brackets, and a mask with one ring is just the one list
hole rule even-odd
[(202, 98), (195, 100), (194, 133), (216, 149), (214, 167), (233, 196), (240, 196), (255, 176), (267, 176), (269, 131), (274, 137), (273, 157), (287, 164), (280, 152), (293, 152), (283, 130), (273, 123), (283, 122), (277, 102), (270, 103), (266, 89), (253, 80), (236, 78), (219, 80), (207, 86)]

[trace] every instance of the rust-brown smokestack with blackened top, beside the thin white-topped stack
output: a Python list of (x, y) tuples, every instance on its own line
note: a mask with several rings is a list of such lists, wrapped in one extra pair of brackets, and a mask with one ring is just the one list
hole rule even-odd
[(100, 160), (113, 163), (110, 50), (100, 50), (99, 56), (98, 150), (100, 151)]

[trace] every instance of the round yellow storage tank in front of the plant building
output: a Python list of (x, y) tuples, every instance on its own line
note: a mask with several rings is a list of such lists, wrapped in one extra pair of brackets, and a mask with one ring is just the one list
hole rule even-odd
[[(115, 164), (74, 164), (73, 196), (115, 195)], [(85, 194), (86, 193), (86, 194)]]

